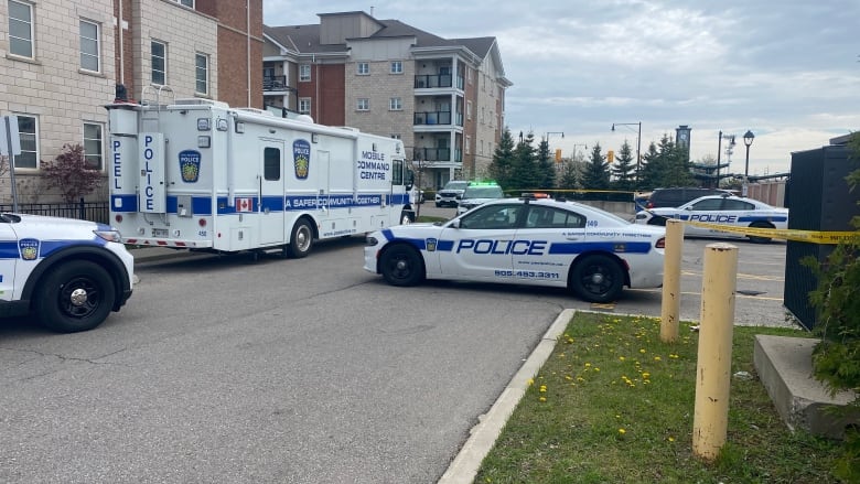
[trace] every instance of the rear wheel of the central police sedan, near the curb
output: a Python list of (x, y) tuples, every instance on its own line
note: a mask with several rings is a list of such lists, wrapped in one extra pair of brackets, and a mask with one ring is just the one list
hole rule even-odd
[(570, 286), (588, 302), (612, 302), (624, 289), (624, 272), (609, 256), (591, 255), (577, 260), (570, 275)]

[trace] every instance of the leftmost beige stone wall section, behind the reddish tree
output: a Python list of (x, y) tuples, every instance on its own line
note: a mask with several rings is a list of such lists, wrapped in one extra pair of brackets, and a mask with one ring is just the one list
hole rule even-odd
[[(84, 122), (99, 123), (106, 157), (104, 106), (115, 95), (112, 0), (37, 0), (28, 4), (32, 7), (33, 58), (9, 52), (9, 2), (0, 2), (0, 115), (36, 118), (37, 157), (44, 161), (56, 158), (63, 144), (83, 144)], [(80, 20), (99, 26), (99, 72), (80, 68)], [(10, 175), (2, 172), (0, 203), (10, 203)], [(39, 172), (15, 170), (19, 202), (57, 201), (56, 195), (44, 193)]]

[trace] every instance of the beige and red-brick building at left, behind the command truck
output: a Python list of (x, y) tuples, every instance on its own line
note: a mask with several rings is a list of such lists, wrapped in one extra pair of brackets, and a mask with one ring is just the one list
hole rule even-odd
[[(137, 100), (262, 108), (262, 0), (0, 0), (0, 115), (18, 116), (22, 203), (60, 201), (41, 187), (40, 160), (66, 143), (105, 169), (104, 106), (118, 85)], [(2, 171), (0, 203), (9, 203)], [(107, 200), (107, 187), (92, 198)]]

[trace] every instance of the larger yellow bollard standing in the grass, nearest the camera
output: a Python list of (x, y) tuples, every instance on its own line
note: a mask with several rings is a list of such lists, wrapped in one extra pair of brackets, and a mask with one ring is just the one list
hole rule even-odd
[(737, 275), (738, 247), (731, 244), (708, 245), (701, 284), (696, 409), (692, 417), (692, 452), (708, 461), (717, 459), (725, 443), (729, 426)]

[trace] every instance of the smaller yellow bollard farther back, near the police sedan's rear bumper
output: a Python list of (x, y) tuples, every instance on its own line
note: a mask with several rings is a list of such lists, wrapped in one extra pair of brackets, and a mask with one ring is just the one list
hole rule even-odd
[(684, 252), (684, 224), (666, 221), (666, 250), (663, 259), (663, 303), (660, 312), (660, 341), (678, 341), (678, 314), (680, 313), (680, 261)]

